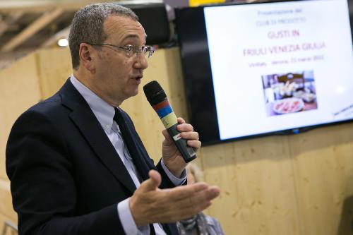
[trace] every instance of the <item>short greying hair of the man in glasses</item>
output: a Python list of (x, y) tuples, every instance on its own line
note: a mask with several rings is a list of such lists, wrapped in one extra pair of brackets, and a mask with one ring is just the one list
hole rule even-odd
[(80, 43), (102, 43), (108, 35), (103, 24), (108, 16), (126, 16), (138, 21), (138, 16), (130, 8), (113, 3), (90, 4), (80, 8), (73, 16), (68, 45), (70, 47), (72, 67), (78, 68)]

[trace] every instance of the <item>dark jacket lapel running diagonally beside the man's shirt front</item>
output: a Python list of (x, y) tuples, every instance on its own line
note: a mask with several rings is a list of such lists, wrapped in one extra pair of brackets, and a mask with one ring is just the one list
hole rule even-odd
[(73, 87), (70, 80), (66, 81), (59, 92), (62, 103), (72, 109), (68, 116), (76, 124), (95, 154), (115, 178), (133, 193), (136, 190), (135, 184), (87, 102)]

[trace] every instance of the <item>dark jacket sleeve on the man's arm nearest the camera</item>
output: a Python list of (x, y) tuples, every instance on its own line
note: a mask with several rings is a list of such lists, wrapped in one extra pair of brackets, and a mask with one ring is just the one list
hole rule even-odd
[(124, 234), (116, 204), (76, 215), (71, 156), (59, 128), (44, 114), (25, 112), (13, 125), (6, 171), (20, 234)]

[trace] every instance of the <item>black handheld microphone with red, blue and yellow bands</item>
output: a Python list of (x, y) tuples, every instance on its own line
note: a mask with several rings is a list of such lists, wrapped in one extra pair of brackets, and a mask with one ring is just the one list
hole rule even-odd
[(143, 86), (143, 91), (145, 92), (145, 96), (147, 97), (148, 102), (150, 102), (152, 108), (155, 109), (155, 112), (160, 116), (164, 127), (172, 137), (181, 156), (184, 158), (184, 161), (191, 162), (193, 159), (196, 159), (196, 152), (192, 147), (187, 145), (186, 140), (181, 138), (180, 132), (177, 131), (177, 126), (179, 124), (177, 116), (174, 114), (167, 95), (165, 95), (160, 83), (153, 80)]

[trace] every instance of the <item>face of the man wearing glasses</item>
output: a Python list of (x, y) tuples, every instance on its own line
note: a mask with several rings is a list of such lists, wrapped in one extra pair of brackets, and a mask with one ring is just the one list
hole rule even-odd
[[(108, 37), (104, 43), (125, 47), (145, 46), (145, 30), (142, 25), (126, 16), (109, 16), (104, 21)], [(148, 67), (143, 54), (127, 56), (124, 49), (104, 46), (98, 52), (95, 65), (95, 89), (104, 100), (123, 102), (138, 94), (143, 70)]]

